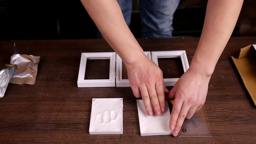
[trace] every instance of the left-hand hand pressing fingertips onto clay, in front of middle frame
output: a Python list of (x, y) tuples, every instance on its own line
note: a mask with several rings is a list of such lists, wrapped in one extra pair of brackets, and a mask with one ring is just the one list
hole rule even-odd
[(165, 110), (165, 87), (163, 73), (160, 68), (146, 56), (133, 64), (127, 64), (127, 74), (134, 96), (142, 97), (147, 115), (153, 115), (150, 100), (156, 115)]

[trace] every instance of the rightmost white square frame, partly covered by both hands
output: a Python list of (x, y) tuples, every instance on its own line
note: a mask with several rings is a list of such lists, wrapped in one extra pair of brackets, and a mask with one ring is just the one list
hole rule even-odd
[[(185, 50), (171, 51), (151, 51), (152, 60), (158, 65), (158, 58), (181, 58), (183, 71), (186, 72), (189, 68), (187, 55)], [(165, 86), (173, 86), (179, 78), (164, 78)]]

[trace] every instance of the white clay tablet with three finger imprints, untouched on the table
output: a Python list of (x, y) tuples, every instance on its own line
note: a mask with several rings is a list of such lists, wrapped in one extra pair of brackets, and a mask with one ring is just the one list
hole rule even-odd
[(93, 98), (89, 134), (122, 134), (122, 98)]

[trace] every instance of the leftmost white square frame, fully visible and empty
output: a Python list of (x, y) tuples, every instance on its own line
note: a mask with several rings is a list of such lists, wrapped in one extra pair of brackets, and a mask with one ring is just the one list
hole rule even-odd
[[(115, 86), (115, 52), (86, 52), (81, 54), (81, 61), (78, 73), (77, 87), (114, 87)], [(87, 60), (108, 60), (110, 59), (109, 79), (85, 80), (85, 68)]]

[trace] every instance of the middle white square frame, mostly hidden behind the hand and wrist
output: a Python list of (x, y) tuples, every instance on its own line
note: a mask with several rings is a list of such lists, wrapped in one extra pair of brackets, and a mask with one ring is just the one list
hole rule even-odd
[[(146, 57), (151, 60), (150, 51), (144, 51)], [(130, 87), (129, 79), (122, 79), (122, 59), (116, 54), (116, 87)]]

